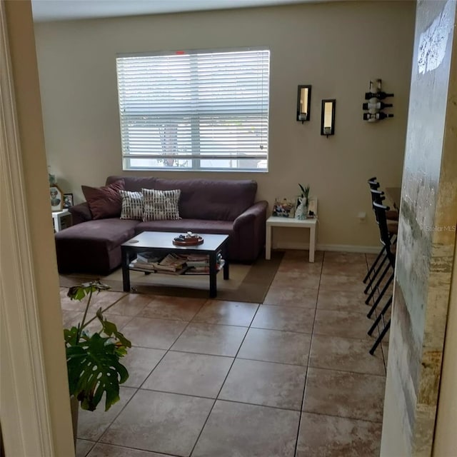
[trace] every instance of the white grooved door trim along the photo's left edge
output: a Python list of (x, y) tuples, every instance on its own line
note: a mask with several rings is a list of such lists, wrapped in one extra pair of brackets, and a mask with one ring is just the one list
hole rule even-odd
[(4, 1), (0, 1), (0, 403), (6, 455), (53, 457)]

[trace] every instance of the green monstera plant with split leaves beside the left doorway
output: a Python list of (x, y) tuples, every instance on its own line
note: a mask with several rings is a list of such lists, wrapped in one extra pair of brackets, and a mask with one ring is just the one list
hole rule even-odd
[[(81, 408), (94, 411), (104, 393), (105, 411), (119, 401), (119, 385), (129, 378), (129, 373), (119, 359), (127, 353), (131, 342), (106, 321), (101, 308), (96, 317), (87, 320), (94, 293), (106, 291), (109, 286), (100, 281), (91, 281), (69, 289), (72, 300), (82, 301), (87, 297), (86, 309), (78, 325), (64, 329), (66, 366), (69, 375), (70, 396), (77, 398)], [(89, 331), (89, 323), (98, 319), (99, 331)]]

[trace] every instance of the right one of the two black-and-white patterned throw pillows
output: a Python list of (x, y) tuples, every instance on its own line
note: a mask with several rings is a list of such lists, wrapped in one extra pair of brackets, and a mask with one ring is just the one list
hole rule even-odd
[(178, 201), (181, 189), (158, 191), (141, 189), (143, 192), (143, 221), (169, 221), (179, 217)]

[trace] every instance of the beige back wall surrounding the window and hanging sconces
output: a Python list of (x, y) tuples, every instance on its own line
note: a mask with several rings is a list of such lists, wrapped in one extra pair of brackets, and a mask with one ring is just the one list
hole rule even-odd
[[(48, 163), (78, 202), (81, 184), (103, 185), (121, 173), (116, 53), (268, 46), (268, 174), (161, 176), (256, 179), (258, 198), (270, 204), (310, 184), (319, 199), (319, 243), (376, 246), (366, 179), (401, 182), (414, 14), (413, 1), (341, 1), (36, 24)], [(375, 78), (395, 94), (395, 118), (367, 124), (362, 103)], [(298, 84), (313, 86), (304, 124), (295, 120)], [(319, 134), (326, 98), (336, 99), (336, 134), (328, 139)], [(359, 211), (367, 213), (365, 224)]]

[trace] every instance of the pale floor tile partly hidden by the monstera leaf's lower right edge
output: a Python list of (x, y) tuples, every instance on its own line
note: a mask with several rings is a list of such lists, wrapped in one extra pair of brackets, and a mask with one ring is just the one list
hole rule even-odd
[(127, 355), (121, 359), (121, 363), (129, 371), (129, 379), (124, 383), (124, 386), (141, 386), (165, 353), (164, 349), (140, 348), (138, 346), (129, 348)]

